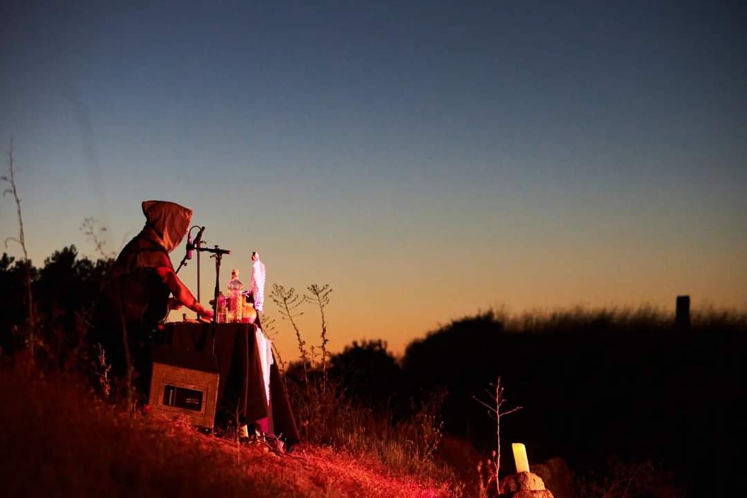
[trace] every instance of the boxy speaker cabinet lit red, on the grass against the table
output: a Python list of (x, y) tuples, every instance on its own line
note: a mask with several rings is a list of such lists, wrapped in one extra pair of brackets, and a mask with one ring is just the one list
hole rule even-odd
[(213, 428), (218, 397), (218, 364), (210, 353), (158, 348), (153, 352), (149, 404), (152, 413), (187, 417)]

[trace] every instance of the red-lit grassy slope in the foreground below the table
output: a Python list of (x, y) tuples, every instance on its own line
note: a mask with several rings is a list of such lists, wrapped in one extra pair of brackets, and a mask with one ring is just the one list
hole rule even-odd
[(128, 415), (71, 379), (0, 371), (4, 496), (448, 497), (376, 459), (302, 444), (290, 455)]

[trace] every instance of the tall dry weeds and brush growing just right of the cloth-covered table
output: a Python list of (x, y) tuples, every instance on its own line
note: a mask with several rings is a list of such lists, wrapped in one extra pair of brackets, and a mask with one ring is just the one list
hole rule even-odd
[[(304, 441), (346, 452), (375, 462), (394, 476), (436, 483), (451, 494), (459, 494), (462, 484), (454, 470), (436, 458), (443, 436), (440, 408), (443, 396), (413, 405), (410, 417), (396, 420), (390, 408), (372, 410), (344, 396), (341, 386), (329, 379), (329, 352), (324, 312), (329, 305), (327, 285), (312, 284), (308, 295), (294, 288), (275, 285), (270, 297), (296, 333), (299, 361), (287, 373), (288, 393)], [(320, 345), (308, 346), (294, 317), (307, 303), (320, 312)]]

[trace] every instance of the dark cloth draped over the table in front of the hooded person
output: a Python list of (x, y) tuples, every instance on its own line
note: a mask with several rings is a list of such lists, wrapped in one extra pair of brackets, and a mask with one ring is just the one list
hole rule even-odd
[[(188, 351), (211, 352), (212, 325), (209, 323), (174, 322), (164, 326), (164, 346)], [(288, 445), (299, 441), (288, 393), (275, 362), (270, 366), (270, 404), (264, 393), (262, 367), (250, 323), (218, 323), (215, 334), (215, 357), (218, 364), (218, 409), (233, 420), (238, 414), (245, 423), (259, 424), (285, 439)]]

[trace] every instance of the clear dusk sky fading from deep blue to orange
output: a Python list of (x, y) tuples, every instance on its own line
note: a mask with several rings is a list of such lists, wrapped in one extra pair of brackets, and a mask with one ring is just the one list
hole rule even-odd
[(747, 309), (744, 2), (64, 3), (0, 7), (34, 264), (165, 199), (224, 284), (252, 250), (268, 290), (331, 284), (334, 350), (500, 305)]

